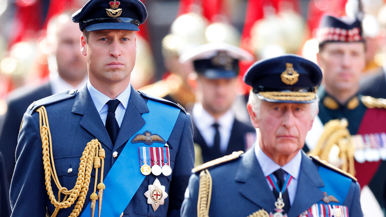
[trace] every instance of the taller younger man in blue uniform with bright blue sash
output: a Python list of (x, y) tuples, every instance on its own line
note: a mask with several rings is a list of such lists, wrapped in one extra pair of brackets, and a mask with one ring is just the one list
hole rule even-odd
[(25, 113), (12, 216), (179, 216), (192, 124), (183, 108), (130, 85), (146, 17), (139, 0), (90, 0), (73, 14), (89, 80)]

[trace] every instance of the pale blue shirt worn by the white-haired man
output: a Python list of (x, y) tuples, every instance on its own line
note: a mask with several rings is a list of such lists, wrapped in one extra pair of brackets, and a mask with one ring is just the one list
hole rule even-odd
[[(298, 186), (298, 178), (299, 178), (300, 163), (301, 163), (301, 151), (299, 151), (298, 154), (296, 154), (295, 157), (292, 158), (291, 161), (289, 161), (284, 166), (280, 166), (279, 164), (276, 164), (271, 158), (269, 158), (261, 150), (257, 142), (255, 144), (255, 155), (256, 155), (257, 161), (259, 161), (261, 170), (263, 171), (265, 177), (271, 175), (274, 171), (279, 170), (280, 168), (285, 171), (284, 180), (286, 180), (286, 178), (288, 177), (288, 174), (292, 176), (292, 180), (287, 187), (289, 202), (292, 205), (293, 201), (295, 200), (296, 188)], [(274, 181), (278, 181), (275, 176), (273, 177), (274, 177)], [(273, 186), (271, 185), (271, 183), (269, 183), (267, 178), (266, 180), (269, 185), (269, 188), (271, 188), (271, 191), (272, 191)]]

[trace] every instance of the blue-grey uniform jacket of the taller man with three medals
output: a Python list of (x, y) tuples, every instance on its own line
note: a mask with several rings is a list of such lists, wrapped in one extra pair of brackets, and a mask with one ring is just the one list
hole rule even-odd
[[(71, 190), (74, 188), (78, 177), (80, 158), (86, 144), (95, 138), (100, 141), (102, 148), (105, 149), (104, 177), (106, 177), (112, 165), (120, 158), (120, 156), (117, 159), (113, 158), (113, 153), (115, 151), (118, 154), (121, 153), (129, 138), (145, 124), (142, 114), (149, 112), (146, 104), (147, 100), (154, 100), (178, 107), (174, 103), (139, 93), (131, 88), (129, 103), (115, 146), (113, 146), (108, 136), (86, 86), (72, 94), (71, 91), (59, 93), (31, 105), (24, 114), (16, 149), (16, 166), (10, 189), (12, 216), (43, 217), (46, 215), (46, 207), (50, 215), (55, 209), (49, 200), (45, 185), (42, 141), (39, 133), (39, 113), (35, 111), (36, 108), (42, 105), (46, 107), (52, 136), (54, 163), (59, 183), (68, 190)], [(185, 110), (181, 108), (167, 141), (170, 145), (170, 166), (173, 169), (173, 173), (169, 176), (164, 176), (163, 174), (159, 176), (147, 175), (124, 210), (124, 216), (161, 217), (167, 214), (168, 216), (179, 216), (179, 209), (183, 202), (191, 169), (194, 165), (192, 135), (190, 115), (186, 114)], [(139, 162), (132, 166), (140, 170)], [(69, 170), (70, 168), (72, 168), (72, 171)], [(144, 193), (156, 178), (158, 178), (161, 185), (166, 187), (165, 192), (169, 196), (165, 199), (164, 205), (159, 205), (159, 208), (154, 211), (152, 206), (147, 204), (147, 198), (144, 196)], [(120, 177), (120, 179), (130, 180), (130, 177)], [(82, 212), (90, 202), (94, 180), (95, 169), (91, 172), (90, 189), (88, 190)], [(56, 200), (58, 200), (58, 188), (52, 179), (51, 185)], [(62, 195), (62, 200), (63, 197)], [(106, 198), (103, 197), (103, 201), (105, 200)], [(75, 203), (77, 201), (78, 199), (75, 200)], [(61, 209), (57, 216), (69, 216), (74, 209), (74, 204), (67, 209)], [(81, 216), (82, 212), (79, 216)]]

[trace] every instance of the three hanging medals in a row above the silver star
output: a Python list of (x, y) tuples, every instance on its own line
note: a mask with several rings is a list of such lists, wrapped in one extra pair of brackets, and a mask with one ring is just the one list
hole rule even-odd
[(139, 166), (145, 176), (171, 175), (170, 155), (168, 147), (139, 147)]

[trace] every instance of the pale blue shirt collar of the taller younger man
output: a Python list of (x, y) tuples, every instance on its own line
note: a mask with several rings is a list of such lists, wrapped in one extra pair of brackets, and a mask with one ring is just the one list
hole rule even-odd
[[(98, 113), (100, 113), (103, 106), (109, 100), (111, 100), (110, 97), (104, 95), (99, 90), (95, 89), (95, 87), (91, 85), (90, 80), (87, 81), (87, 89), (88, 89), (88, 92), (90, 93), (91, 99), (93, 100), (95, 107), (97, 108)], [(127, 108), (127, 104), (129, 103), (130, 92), (131, 92), (131, 85), (129, 84), (127, 88), (122, 93), (120, 93), (117, 98), (115, 98), (122, 103), (125, 109)]]

